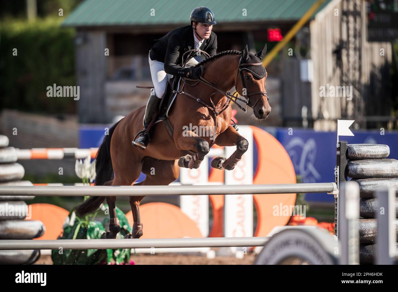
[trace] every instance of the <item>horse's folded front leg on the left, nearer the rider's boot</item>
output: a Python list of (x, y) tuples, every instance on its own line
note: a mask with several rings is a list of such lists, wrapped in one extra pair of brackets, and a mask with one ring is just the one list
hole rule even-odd
[(199, 137), (193, 131), (187, 131), (186, 135), (180, 136), (176, 141), (177, 149), (179, 150), (193, 150), (196, 149), (195, 155), (185, 155), (178, 160), (179, 167), (185, 168), (199, 168), (205, 155), (209, 153), (210, 146), (202, 137)]

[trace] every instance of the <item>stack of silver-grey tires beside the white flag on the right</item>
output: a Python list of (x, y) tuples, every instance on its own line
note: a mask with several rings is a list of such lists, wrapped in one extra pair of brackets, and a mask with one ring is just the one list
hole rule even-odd
[[(381, 144), (350, 144), (347, 149), (347, 176), (359, 184), (359, 259), (361, 264), (374, 263), (376, 256), (377, 199), (374, 192), (380, 187), (398, 190), (398, 161), (388, 159), (390, 147)], [(398, 197), (395, 197), (396, 218)], [(398, 239), (398, 220), (395, 220)], [(396, 246), (398, 250), (398, 244)], [(398, 257), (396, 257), (398, 259)]]

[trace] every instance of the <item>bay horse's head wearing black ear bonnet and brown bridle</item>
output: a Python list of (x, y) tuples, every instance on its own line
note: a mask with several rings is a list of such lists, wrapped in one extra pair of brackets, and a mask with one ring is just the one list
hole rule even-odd
[[(257, 54), (249, 53), (248, 46), (245, 46), (240, 56), (238, 74), (235, 79), (236, 91), (246, 97), (248, 106), (253, 108), (254, 116), (259, 120), (267, 118), (271, 112), (265, 89), (267, 71), (261, 62), (266, 51), (266, 44)], [(238, 78), (239, 75), (240, 78)]]

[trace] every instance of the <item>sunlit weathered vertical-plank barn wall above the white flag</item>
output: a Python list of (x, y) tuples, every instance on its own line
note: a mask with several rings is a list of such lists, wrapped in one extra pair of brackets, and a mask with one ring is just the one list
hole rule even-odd
[[(344, 70), (347, 66), (347, 52), (343, 49), (341, 59), (336, 57), (336, 49), (340, 40), (347, 39), (345, 24), (342, 25), (341, 14), (343, 8), (350, 8), (354, 4), (360, 6), (361, 39), (360, 56), (361, 75), (360, 88), (353, 89), (353, 99), (348, 101), (345, 97), (320, 97), (320, 86), (326, 84), (345, 86), (342, 84), (341, 66)], [(392, 48), (390, 43), (367, 42), (367, 13), (365, 1), (361, 0), (334, 0), (328, 4), (314, 20), (310, 22), (311, 58), (314, 66), (314, 79), (311, 85), (312, 116), (314, 129), (336, 130), (336, 119), (347, 118), (364, 121), (364, 115), (388, 114), (388, 97), (382, 92), (382, 82), (388, 80), (388, 68), (392, 60)], [(344, 5), (344, 7), (343, 7)], [(338, 9), (339, 15), (335, 12)], [(384, 48), (384, 56), (380, 56), (380, 48)], [(341, 61), (341, 63), (339, 63)], [(359, 80), (358, 80), (359, 81)], [(355, 90), (359, 94), (355, 95)], [(379, 96), (374, 96), (379, 93)], [(381, 96), (382, 95), (382, 96)], [(384, 102), (383, 102), (384, 101)], [(363, 124), (357, 124), (363, 126)]]

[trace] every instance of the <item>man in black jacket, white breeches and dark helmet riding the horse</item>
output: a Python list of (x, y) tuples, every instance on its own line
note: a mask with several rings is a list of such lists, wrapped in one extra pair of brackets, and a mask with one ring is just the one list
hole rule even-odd
[(164, 37), (154, 40), (149, 51), (149, 66), (154, 85), (154, 92), (151, 92), (146, 104), (144, 116), (144, 133), (142, 133), (133, 144), (145, 149), (149, 143), (149, 133), (146, 128), (158, 112), (158, 106), (166, 90), (168, 80), (172, 75), (199, 79), (201, 68), (181, 67), (182, 56), (191, 49), (200, 48), (210, 56), (217, 51), (217, 36), (211, 31), (214, 21), (213, 12), (201, 6), (191, 12), (190, 25), (178, 27)]

